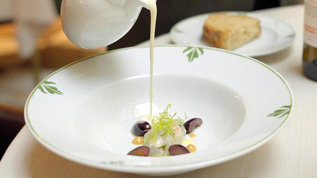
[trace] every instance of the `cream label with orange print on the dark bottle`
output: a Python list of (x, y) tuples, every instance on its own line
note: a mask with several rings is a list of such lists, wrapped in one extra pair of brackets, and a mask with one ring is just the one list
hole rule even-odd
[(304, 41), (317, 48), (317, 0), (305, 0)]

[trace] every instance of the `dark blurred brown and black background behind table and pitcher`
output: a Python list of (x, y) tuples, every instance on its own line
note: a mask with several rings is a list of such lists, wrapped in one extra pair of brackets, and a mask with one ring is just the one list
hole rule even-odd
[[(1, 1), (0, 6), (5, 2), (10, 3), (9, 1), (12, 0)], [(302, 0), (157, 0), (158, 14), (155, 35), (168, 33), (176, 22), (197, 14), (215, 11), (252, 11), (297, 3), (302, 3)], [(59, 12), (61, 0), (55, 0), (55, 4)], [(14, 52), (10, 55), (1, 54), (1, 48), (9, 48), (11, 44), (11, 42), (5, 40), (9, 39), (9, 37), (14, 40), (15, 25), (9, 16), (10, 13), (10, 11), (7, 11), (6, 16), (1, 18), (3, 11), (1, 12), (0, 10), (0, 44), (4, 44), (0, 45), (0, 159), (24, 125), (23, 106), (28, 94), (35, 86), (24, 85), (23, 82), (20, 82), (32, 80), (32, 74), (30, 73), (32, 73), (33, 69), (30, 60), (17, 60), (19, 58), (17, 49), (13, 50)], [(130, 47), (148, 40), (150, 36), (149, 24), (150, 12), (143, 9), (133, 28), (119, 41), (108, 46), (108, 50)], [(56, 29), (58, 28), (61, 28), (60, 24), (56, 25)], [(51, 30), (49, 35), (56, 35), (56, 29)], [(41, 65), (43, 68), (41, 71), (44, 71), (44, 77), (69, 62), (94, 53), (100, 53), (98, 50), (92, 53), (91, 51), (69, 47), (69, 45), (65, 45), (66, 47), (54, 46), (54, 48), (41, 49), (39, 51), (42, 54)], [(15, 48), (16, 45), (13, 46), (12, 48)], [(2, 51), (8, 50), (3, 49)], [(70, 55), (71, 53), (72, 55)], [(63, 62), (66, 58), (72, 59)], [(14, 93), (12, 87), (21, 88), (21, 90)]]

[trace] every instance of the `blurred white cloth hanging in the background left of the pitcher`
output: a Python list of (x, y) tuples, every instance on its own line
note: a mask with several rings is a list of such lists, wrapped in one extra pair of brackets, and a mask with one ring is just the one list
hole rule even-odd
[(53, 0), (13, 0), (12, 7), (20, 55), (31, 58), (36, 52), (37, 38), (57, 17), (55, 3)]

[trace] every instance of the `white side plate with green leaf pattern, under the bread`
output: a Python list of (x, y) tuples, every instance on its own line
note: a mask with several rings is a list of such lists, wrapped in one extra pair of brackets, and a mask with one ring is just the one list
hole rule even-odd
[[(247, 12), (227, 13), (254, 17), (261, 23), (261, 36), (232, 50), (235, 53), (251, 57), (264, 56), (281, 51), (294, 41), (295, 31), (284, 21)], [(210, 15), (211, 13), (192, 16), (176, 23), (170, 32), (172, 41), (175, 44), (210, 46), (203, 36), (204, 22)]]

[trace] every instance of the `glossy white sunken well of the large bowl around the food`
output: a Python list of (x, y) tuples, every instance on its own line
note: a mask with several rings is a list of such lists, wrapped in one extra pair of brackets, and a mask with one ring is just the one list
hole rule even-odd
[[(186, 140), (195, 142), (199, 150), (223, 142), (243, 123), (246, 106), (237, 97), (239, 94), (226, 86), (181, 75), (155, 75), (154, 80), (155, 115), (170, 103), (171, 113), (178, 112), (184, 118), (186, 112), (190, 118), (203, 119), (204, 124), (193, 132), (197, 138), (186, 135)], [(137, 147), (132, 144), (132, 125), (149, 114), (148, 86), (149, 77), (141, 76), (120, 80), (92, 93), (76, 112), (78, 134), (87, 143), (126, 155)]]

